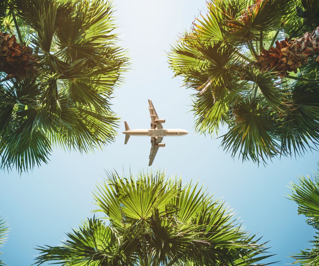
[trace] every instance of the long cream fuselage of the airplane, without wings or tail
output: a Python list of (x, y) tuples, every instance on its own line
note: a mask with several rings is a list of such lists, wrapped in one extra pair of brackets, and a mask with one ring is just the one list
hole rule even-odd
[(179, 128), (171, 129), (133, 129), (123, 132), (126, 135), (130, 136), (148, 136), (148, 137), (166, 137), (166, 136), (183, 136), (188, 134), (188, 131)]

